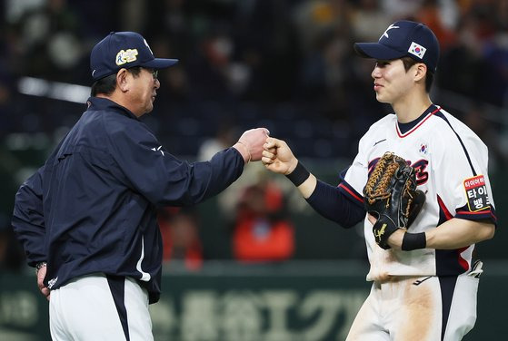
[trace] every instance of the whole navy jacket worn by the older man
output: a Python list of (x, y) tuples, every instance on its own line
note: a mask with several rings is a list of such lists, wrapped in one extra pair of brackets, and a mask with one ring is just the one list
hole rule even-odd
[(156, 209), (210, 198), (243, 170), (234, 148), (211, 161), (180, 161), (132, 112), (92, 97), (45, 165), (18, 190), (13, 226), (28, 264), (47, 261), (47, 287), (96, 272), (129, 276), (154, 303), (162, 268)]

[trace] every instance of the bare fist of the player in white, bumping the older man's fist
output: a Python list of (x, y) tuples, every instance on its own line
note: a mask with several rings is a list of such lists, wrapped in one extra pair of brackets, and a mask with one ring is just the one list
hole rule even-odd
[(266, 139), (261, 161), (268, 170), (284, 175), (294, 171), (298, 164), (298, 159), (294, 157), (287, 143), (273, 137)]

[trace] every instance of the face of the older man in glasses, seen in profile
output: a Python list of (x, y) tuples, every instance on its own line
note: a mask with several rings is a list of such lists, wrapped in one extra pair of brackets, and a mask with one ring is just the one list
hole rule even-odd
[(143, 67), (133, 81), (131, 102), (134, 114), (139, 117), (154, 110), (156, 91), (161, 83), (154, 75), (154, 70)]

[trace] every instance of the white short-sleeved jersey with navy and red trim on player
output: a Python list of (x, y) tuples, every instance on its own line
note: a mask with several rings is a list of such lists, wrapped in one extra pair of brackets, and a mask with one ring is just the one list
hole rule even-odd
[[(411, 123), (397, 122), (395, 114), (375, 122), (362, 137), (353, 164), (343, 172), (340, 190), (351, 200), (363, 202), (361, 193), (369, 173), (386, 151), (417, 169), (418, 190), (426, 196), (410, 232), (436, 229), (452, 218), (488, 219), (495, 223), (487, 147), (450, 113), (431, 105)], [(384, 250), (376, 245), (372, 227), (365, 218), (364, 235), (371, 264), (367, 280), (458, 275), (471, 267), (474, 245), (452, 250)]]

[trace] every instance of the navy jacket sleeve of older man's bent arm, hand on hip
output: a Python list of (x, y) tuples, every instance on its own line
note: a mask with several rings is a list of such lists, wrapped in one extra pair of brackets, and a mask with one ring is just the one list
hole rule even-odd
[(15, 234), (23, 244), (31, 267), (46, 260), (43, 170), (44, 167), (35, 172), (17, 191), (12, 219)]

